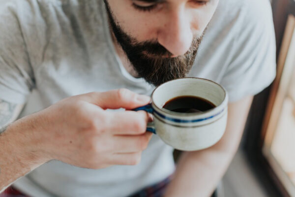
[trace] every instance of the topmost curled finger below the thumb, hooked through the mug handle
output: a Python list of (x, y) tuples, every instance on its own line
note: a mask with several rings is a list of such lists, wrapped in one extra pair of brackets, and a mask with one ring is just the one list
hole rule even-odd
[(145, 111), (110, 111), (108, 116), (106, 129), (115, 135), (142, 134), (147, 131), (149, 116)]

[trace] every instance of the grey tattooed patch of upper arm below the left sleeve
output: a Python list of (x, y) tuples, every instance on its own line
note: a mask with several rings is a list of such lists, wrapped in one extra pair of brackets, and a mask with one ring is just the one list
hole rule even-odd
[(6, 130), (10, 122), (14, 121), (16, 107), (17, 104), (0, 99), (0, 133)]

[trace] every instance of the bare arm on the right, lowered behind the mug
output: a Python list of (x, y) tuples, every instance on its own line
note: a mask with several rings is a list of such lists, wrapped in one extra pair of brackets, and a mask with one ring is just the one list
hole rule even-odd
[(181, 155), (166, 197), (209, 197), (212, 194), (236, 153), (252, 99), (247, 97), (229, 104), (227, 129), (214, 146)]

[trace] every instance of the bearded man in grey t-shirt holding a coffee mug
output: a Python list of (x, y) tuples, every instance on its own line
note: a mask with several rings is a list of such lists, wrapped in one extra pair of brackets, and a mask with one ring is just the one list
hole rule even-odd
[[(210, 196), (275, 76), (267, 0), (5, 0), (0, 28), (0, 190), (29, 196)], [(184, 76), (227, 89), (228, 125), (175, 167), (130, 109)]]

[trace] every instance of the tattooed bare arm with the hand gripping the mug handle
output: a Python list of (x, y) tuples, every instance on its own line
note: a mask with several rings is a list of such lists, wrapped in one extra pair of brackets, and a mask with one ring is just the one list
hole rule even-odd
[[(2, 127), (0, 192), (53, 159), (93, 169), (138, 164), (151, 138), (146, 132), (148, 113), (104, 109), (132, 109), (149, 101), (126, 89), (88, 93), (62, 99)], [(20, 108), (3, 101), (2, 105), (7, 125)]]

